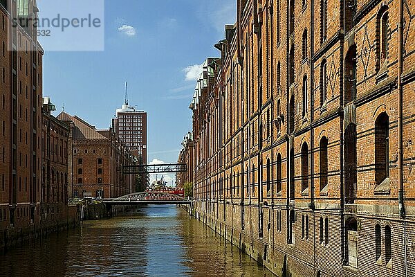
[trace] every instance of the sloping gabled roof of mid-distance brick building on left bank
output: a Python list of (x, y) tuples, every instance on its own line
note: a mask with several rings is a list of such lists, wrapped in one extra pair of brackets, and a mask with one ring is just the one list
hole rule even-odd
[(97, 129), (93, 125), (86, 123), (85, 120), (79, 118), (77, 116), (71, 116), (70, 114), (66, 114), (66, 112), (62, 111), (62, 113), (57, 116), (59, 120), (62, 121), (71, 121), (75, 128), (73, 129), (73, 139), (75, 141), (85, 141), (85, 140), (103, 140), (108, 141), (105, 136), (100, 134)]

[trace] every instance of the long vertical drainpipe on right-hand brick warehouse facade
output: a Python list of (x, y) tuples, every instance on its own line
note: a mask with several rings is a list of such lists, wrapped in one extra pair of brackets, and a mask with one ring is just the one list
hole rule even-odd
[(407, 230), (405, 222), (404, 188), (403, 188), (403, 0), (399, 0), (398, 19), (398, 186), (399, 186), (399, 214), (403, 222), (403, 247), (405, 277), (408, 276), (407, 269)]

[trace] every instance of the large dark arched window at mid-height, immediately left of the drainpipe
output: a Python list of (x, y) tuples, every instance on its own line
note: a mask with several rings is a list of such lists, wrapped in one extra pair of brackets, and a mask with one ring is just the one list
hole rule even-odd
[(382, 184), (389, 177), (389, 116), (382, 112), (375, 121), (375, 181)]

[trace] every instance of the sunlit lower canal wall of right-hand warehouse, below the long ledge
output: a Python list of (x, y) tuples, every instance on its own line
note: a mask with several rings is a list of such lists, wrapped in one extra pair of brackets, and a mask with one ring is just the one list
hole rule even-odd
[[(360, 239), (353, 240), (349, 236), (347, 242), (342, 239), (340, 231), (342, 218), (347, 215), (335, 208), (330, 212), (321, 208), (316, 206), (313, 213), (306, 207), (298, 211), (291, 222), (291, 234), (288, 233), (287, 209), (282, 205), (199, 200), (194, 202), (194, 217), (280, 277), (415, 276), (413, 217), (408, 217), (405, 222), (399, 217), (387, 220), (385, 226), (395, 233), (391, 236), (393, 256), (386, 263), (385, 233), (382, 231), (379, 240), (382, 250), (378, 260), (374, 242), (374, 226), (386, 222), (385, 218), (361, 215), (356, 232)], [(327, 224), (322, 222), (329, 222), (337, 231), (325, 231)], [(363, 234), (367, 235), (363, 238)], [(290, 243), (289, 235), (292, 236)], [(349, 256), (356, 257), (357, 267), (345, 265), (342, 256), (344, 244), (353, 241), (355, 250), (349, 249)], [(402, 266), (404, 262), (406, 269)]]

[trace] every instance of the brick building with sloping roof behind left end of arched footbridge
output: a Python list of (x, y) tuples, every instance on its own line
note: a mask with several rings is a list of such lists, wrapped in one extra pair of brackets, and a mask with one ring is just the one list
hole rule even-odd
[(122, 166), (132, 166), (135, 159), (112, 129), (98, 130), (66, 112), (57, 118), (71, 126), (68, 169), (71, 197), (116, 198), (134, 192), (135, 177), (123, 175)]

